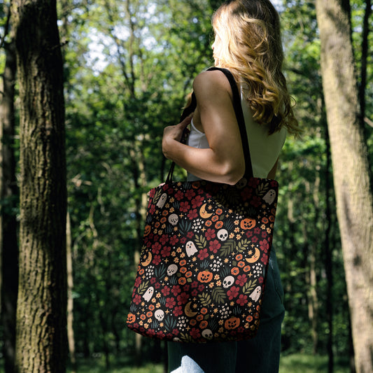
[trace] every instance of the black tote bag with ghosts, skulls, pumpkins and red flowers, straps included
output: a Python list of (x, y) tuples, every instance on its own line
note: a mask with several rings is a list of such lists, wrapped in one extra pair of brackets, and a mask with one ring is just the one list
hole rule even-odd
[[(245, 176), (233, 186), (172, 182), (172, 164), (166, 183), (150, 190), (127, 316), (128, 328), (148, 337), (222, 342), (258, 330), (279, 185), (253, 177), (239, 91), (219, 70), (232, 86)], [(195, 98), (182, 118), (194, 108)]]

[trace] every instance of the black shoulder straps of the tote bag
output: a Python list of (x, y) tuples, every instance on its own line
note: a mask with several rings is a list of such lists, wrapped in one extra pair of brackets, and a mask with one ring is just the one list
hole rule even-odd
[[(236, 80), (234, 80), (232, 73), (227, 69), (222, 69), (220, 67), (211, 67), (210, 69), (207, 69), (207, 71), (211, 71), (211, 70), (222, 71), (227, 77), (228, 81), (230, 82), (230, 86), (232, 88), (232, 94), (233, 94), (234, 113), (236, 114), (237, 122), (239, 125), (239, 133), (241, 134), (241, 143), (242, 143), (242, 148), (244, 150), (244, 159), (245, 159), (244, 177), (251, 178), (253, 177), (253, 166), (251, 164), (250, 149), (248, 147), (248, 137), (247, 137), (247, 132), (246, 132), (244, 113), (242, 112), (241, 95), (239, 94)], [(190, 103), (188, 107), (184, 109), (183, 113), (181, 114), (181, 121), (183, 121), (186, 117), (188, 117), (188, 115), (190, 115), (193, 111), (195, 111), (196, 107), (197, 107), (197, 99), (195, 97), (195, 93), (193, 92), (192, 102)], [(184, 134), (183, 134), (183, 137), (184, 137)], [(171, 167), (169, 169), (169, 174), (167, 175), (166, 183), (171, 183), (172, 174), (174, 174), (174, 168), (175, 168), (175, 162), (172, 162)]]

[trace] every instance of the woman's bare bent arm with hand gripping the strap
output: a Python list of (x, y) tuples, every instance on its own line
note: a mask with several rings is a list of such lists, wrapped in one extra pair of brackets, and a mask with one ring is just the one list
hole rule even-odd
[(234, 185), (244, 176), (245, 162), (230, 83), (221, 71), (204, 71), (195, 78), (193, 89), (197, 98), (193, 121), (206, 134), (209, 148), (179, 142), (190, 123), (187, 118), (164, 129), (163, 153), (199, 178)]

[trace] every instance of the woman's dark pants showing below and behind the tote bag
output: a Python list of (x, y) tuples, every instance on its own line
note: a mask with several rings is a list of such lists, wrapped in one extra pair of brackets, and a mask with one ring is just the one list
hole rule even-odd
[(283, 288), (272, 249), (263, 295), (258, 335), (240, 342), (207, 344), (168, 343), (169, 371), (174, 373), (279, 372)]

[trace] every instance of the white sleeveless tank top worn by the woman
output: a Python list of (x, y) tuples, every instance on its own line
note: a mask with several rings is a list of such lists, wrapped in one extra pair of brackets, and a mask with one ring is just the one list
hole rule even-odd
[[(253, 165), (253, 176), (258, 178), (267, 178), (269, 171), (272, 170), (277, 158), (280, 155), (281, 148), (286, 139), (286, 128), (274, 134), (268, 133), (268, 125), (259, 125), (254, 122), (251, 110), (246, 104), (241, 92), (241, 106), (244, 112), (246, 132), (248, 134), (248, 146), (250, 148), (251, 163)], [(209, 148), (204, 132), (199, 131), (193, 124), (190, 124), (190, 135), (188, 145), (193, 148)], [(196, 176), (188, 173), (188, 181), (199, 180)]]

